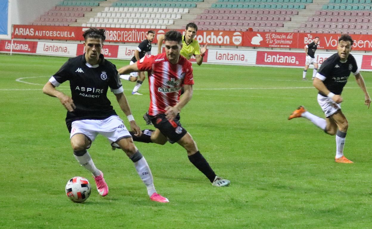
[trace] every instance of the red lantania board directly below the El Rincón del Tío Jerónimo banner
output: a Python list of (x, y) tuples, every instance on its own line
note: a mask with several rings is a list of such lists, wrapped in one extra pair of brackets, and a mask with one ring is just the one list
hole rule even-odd
[(257, 51), (257, 65), (305, 66), (306, 55), (298, 52)]

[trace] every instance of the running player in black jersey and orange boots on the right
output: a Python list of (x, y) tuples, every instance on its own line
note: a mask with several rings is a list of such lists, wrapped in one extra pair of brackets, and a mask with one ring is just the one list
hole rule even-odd
[(341, 35), (337, 53), (326, 59), (316, 74), (313, 85), (318, 89), (318, 103), (323, 109), (325, 119), (317, 117), (306, 111), (303, 106), (296, 109), (290, 116), (292, 118), (304, 117), (317, 127), (330, 135), (336, 134), (336, 157), (338, 163), (353, 163), (343, 154), (346, 131), (349, 126), (347, 119), (341, 111), (340, 103), (343, 101), (341, 92), (346, 85), (350, 72), (353, 72), (356, 82), (364, 92), (364, 104), (371, 104), (362, 75), (360, 74), (354, 57), (350, 54), (353, 39), (349, 35)]

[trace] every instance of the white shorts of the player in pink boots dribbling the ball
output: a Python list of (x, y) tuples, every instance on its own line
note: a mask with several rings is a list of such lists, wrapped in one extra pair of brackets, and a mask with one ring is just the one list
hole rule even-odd
[(123, 120), (116, 115), (112, 115), (104, 120), (86, 119), (73, 121), (71, 127), (70, 139), (75, 134), (84, 134), (90, 140), (87, 148), (90, 147), (98, 134), (105, 136), (111, 145), (122, 138), (131, 137)]

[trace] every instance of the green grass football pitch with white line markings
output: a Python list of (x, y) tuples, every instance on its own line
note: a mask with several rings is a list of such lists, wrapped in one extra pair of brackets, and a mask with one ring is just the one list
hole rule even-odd
[[(147, 159), (158, 193), (151, 202), (133, 163), (100, 136), (89, 152), (105, 173), (109, 194), (75, 158), (65, 109), (42, 86), (67, 60), (0, 55), (0, 228), (370, 228), (372, 109), (350, 75), (341, 104), (349, 121), (344, 154), (334, 162), (335, 137), (310, 121), (288, 115), (299, 105), (323, 117), (311, 80), (302, 69), (194, 66), (194, 94), (181, 122), (215, 172), (230, 187), (212, 187), (179, 145), (136, 143)], [(127, 60), (112, 60), (117, 67)], [(308, 72), (307, 78), (311, 78)], [(371, 92), (372, 73), (362, 72)], [(20, 79), (23, 78), (23, 79)], [(16, 81), (18, 79), (18, 81)], [(147, 128), (148, 82), (131, 95), (134, 117)], [(68, 84), (58, 89), (69, 94)], [(128, 126), (115, 97), (109, 99)], [(65, 196), (73, 176), (86, 177), (92, 194), (83, 204)]]

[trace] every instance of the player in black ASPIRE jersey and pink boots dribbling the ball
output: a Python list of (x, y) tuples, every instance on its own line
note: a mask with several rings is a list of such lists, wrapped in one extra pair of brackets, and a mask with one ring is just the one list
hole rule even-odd
[[(131, 129), (136, 135), (141, 135), (141, 129), (134, 121), (123, 94), (116, 66), (101, 54), (106, 39), (105, 30), (89, 28), (84, 32), (83, 37), (85, 53), (68, 59), (43, 88), (45, 94), (60, 99), (61, 104), (67, 109), (66, 125), (71, 133), (70, 141), (75, 158), (81, 166), (93, 174), (99, 194), (106, 196), (109, 189), (103, 173), (96, 168), (87, 152), (97, 135), (102, 134), (112, 145), (122, 148), (134, 162), (137, 173), (147, 187), (150, 199), (163, 203), (169, 202), (167, 198), (156, 193), (150, 167), (135, 147), (129, 131), (107, 98), (110, 87), (120, 108), (128, 117)], [(71, 97), (55, 89), (65, 81), (70, 82)]]

